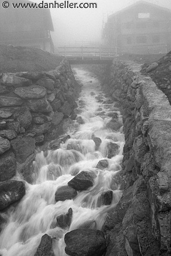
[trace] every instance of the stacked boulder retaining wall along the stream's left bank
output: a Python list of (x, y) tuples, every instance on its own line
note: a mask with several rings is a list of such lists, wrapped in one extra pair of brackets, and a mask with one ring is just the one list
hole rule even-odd
[[(57, 139), (76, 118), (79, 92), (65, 59), (49, 72), (0, 74), (0, 209), (8, 206), (4, 196), (8, 201), (15, 187), (8, 180), (19, 172), (32, 182), (36, 147)], [(17, 194), (16, 189), (12, 193)]]

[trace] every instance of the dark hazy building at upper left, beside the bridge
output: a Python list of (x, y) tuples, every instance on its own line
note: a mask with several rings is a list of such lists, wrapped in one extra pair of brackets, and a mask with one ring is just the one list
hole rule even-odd
[[(0, 45), (37, 47), (53, 52), (54, 31), (49, 9), (2, 7), (0, 0)], [(11, 1), (10, 1), (11, 2)], [(17, 1), (29, 2), (31, 1)]]

